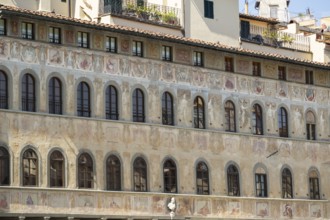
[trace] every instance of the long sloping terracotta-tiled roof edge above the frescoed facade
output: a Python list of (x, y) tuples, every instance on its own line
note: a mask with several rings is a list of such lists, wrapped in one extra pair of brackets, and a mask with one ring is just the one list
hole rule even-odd
[[(81, 19), (76, 19), (76, 18), (70, 18), (70, 17), (58, 15), (58, 14), (51, 13), (51, 12), (31, 11), (31, 10), (27, 10), (27, 9), (18, 8), (18, 7), (0, 5), (0, 14), (4, 13), (4, 12), (7, 12), (7, 13), (16, 12), (16, 13), (22, 14), (23, 16), (24, 15), (25, 16), (35, 15), (35, 16), (39, 16), (39, 17), (54, 18), (54, 19), (58, 19), (59, 20), (58, 22), (69, 21), (69, 22), (89, 25), (90, 27), (95, 27), (95, 28), (102, 27), (102, 28), (109, 29), (109, 31), (119, 30), (119, 31), (123, 31), (126, 33), (129, 32), (132, 34), (141, 34), (145, 37), (154, 37), (157, 39), (161, 38), (161, 39), (164, 39), (167, 41), (175, 40), (175, 41), (178, 41), (178, 43), (188, 43), (188, 44), (193, 44), (196, 46), (206, 47), (209, 49), (240, 53), (243, 55), (254, 55), (254, 56), (260, 56), (260, 57), (270, 58), (270, 59), (281, 59), (282, 61), (287, 61), (287, 62), (298, 62), (300, 64), (305, 64), (305, 65), (311, 64), (311, 65), (316, 65), (319, 67), (326, 67), (326, 68), (329, 67), (330, 68), (330, 64), (326, 64), (326, 63), (314, 62), (314, 61), (310, 61), (310, 60), (303, 60), (303, 59), (298, 59), (298, 58), (294, 58), (294, 57), (286, 57), (286, 56), (274, 54), (274, 53), (266, 53), (266, 52), (260, 52), (260, 51), (255, 51), (255, 50), (242, 49), (242, 48), (238, 48), (238, 47), (231, 47), (231, 46), (228, 46), (225, 44), (221, 44), (219, 42), (213, 43), (213, 42), (203, 41), (200, 39), (174, 36), (174, 35), (170, 35), (170, 34), (146, 31), (146, 30), (126, 27), (126, 26), (104, 24), (104, 23), (91, 22), (91, 21), (86, 21), (86, 20), (81, 20)], [(251, 15), (249, 15), (249, 16), (251, 16)], [(252, 16), (252, 17), (256, 17), (256, 16)]]

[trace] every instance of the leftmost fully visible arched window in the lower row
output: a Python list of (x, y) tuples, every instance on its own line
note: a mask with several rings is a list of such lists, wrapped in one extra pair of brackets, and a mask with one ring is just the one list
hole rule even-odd
[[(27, 154), (31, 153), (31, 157), (29, 157)], [(33, 154), (33, 155), (32, 155)], [(27, 163), (25, 162), (27, 160)], [(34, 162), (33, 162), (34, 161)], [(31, 166), (31, 163), (34, 164), (33, 168)], [(28, 164), (28, 165), (26, 165)], [(35, 150), (28, 148), (26, 149), (22, 154), (22, 186), (28, 186), (28, 187), (36, 187), (39, 185), (39, 157)], [(28, 170), (28, 175), (26, 175), (25, 170)], [(32, 176), (31, 169), (35, 169), (35, 176)], [(27, 179), (26, 179), (27, 178)], [(35, 182), (34, 184), (31, 183)]]

